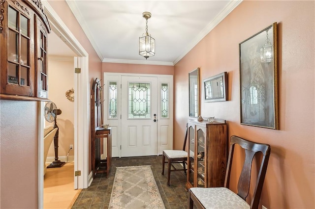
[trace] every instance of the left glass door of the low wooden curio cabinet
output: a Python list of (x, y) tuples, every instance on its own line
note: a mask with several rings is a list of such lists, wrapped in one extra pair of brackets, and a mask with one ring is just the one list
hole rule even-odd
[(189, 171), (188, 181), (194, 186), (194, 153), (195, 153), (195, 130), (189, 126)]

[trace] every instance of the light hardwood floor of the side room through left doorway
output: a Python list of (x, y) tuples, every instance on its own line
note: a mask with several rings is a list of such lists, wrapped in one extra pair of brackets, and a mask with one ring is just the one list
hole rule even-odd
[(44, 176), (44, 209), (71, 208), (81, 189), (74, 189), (74, 163), (48, 168)]

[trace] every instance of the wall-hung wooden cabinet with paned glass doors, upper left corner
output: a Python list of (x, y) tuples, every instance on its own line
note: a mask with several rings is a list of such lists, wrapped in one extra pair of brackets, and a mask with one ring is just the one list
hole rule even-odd
[(1, 98), (47, 98), (50, 26), (41, 1), (0, 0), (0, 17)]

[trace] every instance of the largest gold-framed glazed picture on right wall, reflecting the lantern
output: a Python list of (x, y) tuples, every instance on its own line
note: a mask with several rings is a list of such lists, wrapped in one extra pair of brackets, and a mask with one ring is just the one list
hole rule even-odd
[(241, 124), (279, 130), (277, 23), (239, 44)]

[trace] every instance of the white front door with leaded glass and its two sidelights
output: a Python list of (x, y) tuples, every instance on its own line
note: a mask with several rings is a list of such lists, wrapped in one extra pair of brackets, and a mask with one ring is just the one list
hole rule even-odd
[(173, 148), (173, 76), (104, 73), (103, 89), (112, 157), (155, 156)]

